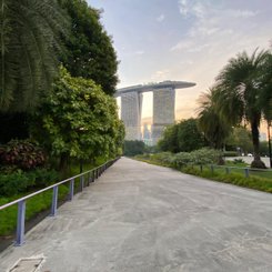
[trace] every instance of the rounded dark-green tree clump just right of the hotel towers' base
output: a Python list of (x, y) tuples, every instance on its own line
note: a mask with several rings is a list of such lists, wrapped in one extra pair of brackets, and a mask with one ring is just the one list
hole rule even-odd
[(158, 142), (161, 151), (190, 152), (205, 145), (204, 135), (199, 131), (193, 118), (168, 127)]

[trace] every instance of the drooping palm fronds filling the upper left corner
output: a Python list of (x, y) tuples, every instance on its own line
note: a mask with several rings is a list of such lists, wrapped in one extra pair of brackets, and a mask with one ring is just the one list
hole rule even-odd
[(1, 0), (0, 109), (28, 111), (58, 72), (67, 19), (57, 0)]

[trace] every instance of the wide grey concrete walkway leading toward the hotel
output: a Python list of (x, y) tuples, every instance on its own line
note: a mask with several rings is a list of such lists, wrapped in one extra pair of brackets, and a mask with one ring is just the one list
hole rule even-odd
[(121, 159), (26, 239), (1, 272), (272, 271), (272, 195)]

